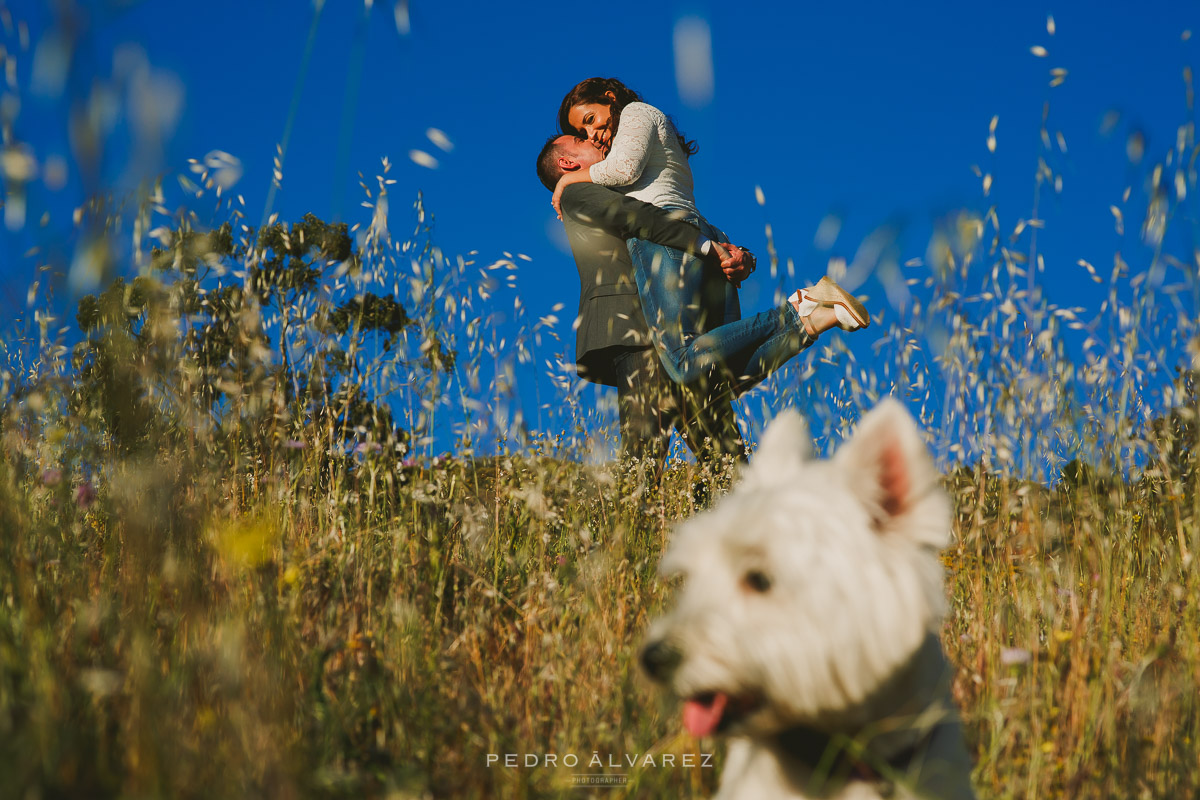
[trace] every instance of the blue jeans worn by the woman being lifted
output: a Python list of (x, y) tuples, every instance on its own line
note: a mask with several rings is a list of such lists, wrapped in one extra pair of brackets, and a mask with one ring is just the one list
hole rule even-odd
[[(702, 217), (685, 218), (709, 239), (725, 240)], [(724, 372), (745, 389), (816, 341), (787, 301), (737, 319), (733, 284), (724, 275), (714, 276), (714, 267), (698, 258), (641, 239), (629, 240), (629, 254), (642, 312), (662, 366), (676, 383), (691, 384)], [(724, 284), (724, 297), (714, 295), (716, 281)]]

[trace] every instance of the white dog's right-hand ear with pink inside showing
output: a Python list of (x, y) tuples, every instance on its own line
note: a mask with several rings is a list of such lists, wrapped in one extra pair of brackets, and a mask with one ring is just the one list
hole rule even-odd
[(949, 501), (917, 422), (898, 401), (887, 398), (864, 415), (833, 461), (871, 509), (878, 533), (948, 543)]

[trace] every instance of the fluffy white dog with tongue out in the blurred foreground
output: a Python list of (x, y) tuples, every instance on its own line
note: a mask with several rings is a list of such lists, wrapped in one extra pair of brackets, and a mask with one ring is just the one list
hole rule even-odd
[(732, 738), (718, 798), (973, 798), (937, 630), (950, 504), (884, 401), (830, 461), (794, 411), (743, 480), (684, 523), (684, 577), (642, 664), (696, 736)]

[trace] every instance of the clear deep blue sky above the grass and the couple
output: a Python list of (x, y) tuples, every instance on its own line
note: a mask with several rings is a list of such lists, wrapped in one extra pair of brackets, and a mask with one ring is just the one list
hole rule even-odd
[[(35, 43), (53, 28), (41, 4), (7, 7), (29, 22)], [(84, 191), (68, 144), (70, 89), (86, 86), (89, 76), (112, 76), (114, 53), (128, 58), (138, 48), (162, 85), (182, 88), (182, 106), (164, 128), (161, 152), (131, 151), (124, 124), (116, 124), (106, 185), (181, 170), (187, 158), (223, 150), (241, 161), (245, 173), (234, 191), (257, 222), (299, 85), (283, 187), (274, 200), (282, 218), (312, 211), (365, 221), (356, 173), (373, 185), (380, 158), (389, 157), (397, 181), (394, 229), (408, 228), (408, 209), (420, 191), (436, 218), (436, 241), (448, 253), (478, 251), (485, 260), (504, 251), (527, 254), (532, 261), (522, 265), (517, 289), (535, 314), (556, 302), (572, 309), (577, 301), (575, 270), (533, 158), (553, 132), (560, 97), (582, 78), (619, 77), (672, 114), (700, 143), (692, 168), (702, 212), (758, 253), (766, 252), (763, 230), (770, 223), (780, 254), (812, 281), (829, 255), (853, 258), (863, 237), (883, 224), (899, 230), (896, 254), (905, 261), (924, 255), (934, 223), (956, 209), (996, 205), (1006, 225), (1031, 216), (1039, 125), (1049, 102), (1048, 127), (1062, 132), (1068, 150), (1052, 162), (1063, 176), (1062, 192), (1048, 193), (1040, 205), (1043, 282), (1062, 305), (1096, 305), (1102, 289), (1086, 281), (1076, 260), (1102, 272), (1111, 266), (1123, 241), (1110, 206), (1121, 205), (1127, 186), (1133, 187), (1127, 228), (1136, 231), (1148, 170), (1189, 119), (1181, 73), (1194, 61), (1195, 40), (1184, 31), (1198, 22), (1193, 4), (1160, 0), (1136, 7), (1024, 0), (601, 6), (408, 0), (401, 6), (407, 25), (398, 25), (392, 0), (371, 7), (328, 0), (301, 84), (311, 2), (85, 7), (68, 91), (25, 91), (13, 124), (40, 163), (55, 155), (66, 160), (68, 180), (58, 191), (30, 192), (28, 216), (48, 212), (47, 227), (0, 228), (0, 313), (8, 319), (25, 313), (25, 287), (47, 253), (52, 272), (70, 259), (70, 215)], [(1054, 35), (1046, 30), (1051, 14)], [(698, 18), (712, 31), (707, 102), (684, 102), (679, 94), (673, 32), (682, 18)], [(16, 36), (6, 42), (14, 52)], [(122, 49), (127, 44), (136, 48)], [(1048, 54), (1034, 55), (1034, 46)], [(32, 58), (18, 56), (23, 86)], [(1068, 74), (1051, 89), (1055, 67)], [(1115, 124), (1105, 131), (1106, 115)], [(994, 116), (992, 154), (986, 139)], [(446, 133), (451, 151), (428, 140), (431, 127)], [(1133, 131), (1146, 136), (1140, 164), (1126, 157)], [(414, 163), (415, 149), (434, 155), (438, 167)], [(994, 175), (988, 198), (972, 166)], [(840, 233), (832, 247), (818, 249), (814, 235), (829, 213), (841, 219)], [(31, 246), (42, 249), (26, 258)], [(1135, 249), (1126, 258), (1138, 266)], [(760, 272), (745, 287), (743, 307), (764, 307), (774, 289)], [(860, 290), (883, 306), (872, 277)], [(60, 287), (58, 294), (71, 293)]]

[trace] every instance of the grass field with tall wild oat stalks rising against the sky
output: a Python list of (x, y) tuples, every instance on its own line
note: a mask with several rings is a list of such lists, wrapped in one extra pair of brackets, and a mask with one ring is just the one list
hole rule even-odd
[[(1064, 152), (1040, 134), (1036, 197)], [(883, 396), (919, 419), (982, 798), (1200, 796), (1196, 152), (1188, 124), (1139, 167), (1111, 273), (1050, 265), (1099, 308), (1044, 296), (1037, 200), (964, 211), (869, 344), (826, 336), (742, 402), (800, 408), (823, 453)], [(570, 320), (527, 315), (520, 258), (439, 251), (420, 199), (404, 240), (382, 193), (361, 241), (252, 229), (193, 167), (229, 225), (161, 185), (92, 198), (77, 233), (130, 283), (0, 341), (0, 800), (712, 794), (722, 745), (636, 652), (673, 524), (736, 467), (606, 461)]]

